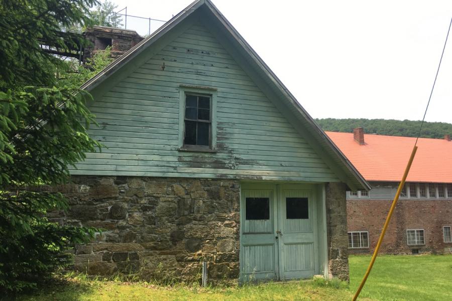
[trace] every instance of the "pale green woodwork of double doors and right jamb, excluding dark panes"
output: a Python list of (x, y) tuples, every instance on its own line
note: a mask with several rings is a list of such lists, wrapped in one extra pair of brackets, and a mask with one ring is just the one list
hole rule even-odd
[[(294, 197), (308, 199), (308, 218), (287, 218), (286, 199)], [(246, 198), (269, 198), (269, 219), (247, 220)], [(326, 274), (324, 207), (322, 185), (242, 184), (241, 281)]]

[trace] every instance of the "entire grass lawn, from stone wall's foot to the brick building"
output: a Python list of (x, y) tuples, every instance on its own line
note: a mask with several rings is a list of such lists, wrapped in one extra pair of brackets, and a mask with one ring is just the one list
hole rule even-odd
[[(351, 300), (370, 256), (350, 257), (350, 287), (338, 281), (293, 281), (260, 285), (201, 288), (161, 286), (147, 282), (66, 277), (18, 300)], [(2, 298), (0, 297), (0, 300)], [(360, 301), (452, 300), (452, 255), (379, 256), (361, 292)]]

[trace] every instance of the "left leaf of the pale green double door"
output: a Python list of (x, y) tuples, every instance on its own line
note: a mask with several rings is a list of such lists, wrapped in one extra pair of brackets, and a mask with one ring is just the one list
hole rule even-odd
[(276, 195), (275, 185), (241, 190), (241, 281), (278, 278)]

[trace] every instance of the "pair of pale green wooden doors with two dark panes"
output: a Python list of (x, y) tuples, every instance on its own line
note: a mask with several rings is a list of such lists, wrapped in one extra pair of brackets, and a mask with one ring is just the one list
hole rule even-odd
[(313, 185), (242, 185), (241, 281), (318, 273), (315, 198)]

